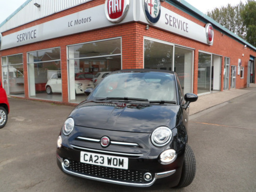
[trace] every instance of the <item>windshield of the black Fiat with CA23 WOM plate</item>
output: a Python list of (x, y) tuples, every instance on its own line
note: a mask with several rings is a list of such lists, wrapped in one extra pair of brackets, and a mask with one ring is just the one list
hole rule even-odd
[(174, 74), (163, 72), (122, 72), (106, 76), (88, 97), (91, 100), (144, 99), (177, 101)]

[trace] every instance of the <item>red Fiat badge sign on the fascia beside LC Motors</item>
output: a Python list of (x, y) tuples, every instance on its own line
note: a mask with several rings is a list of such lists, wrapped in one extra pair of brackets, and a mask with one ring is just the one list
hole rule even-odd
[(130, 0), (105, 0), (105, 15), (112, 23), (119, 23), (126, 16)]

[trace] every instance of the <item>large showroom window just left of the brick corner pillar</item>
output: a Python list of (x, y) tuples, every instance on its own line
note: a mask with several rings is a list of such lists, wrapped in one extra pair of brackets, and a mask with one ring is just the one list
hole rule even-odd
[[(86, 89), (94, 88), (104, 74), (120, 70), (121, 54), (121, 38), (68, 46), (69, 101), (86, 99)], [(81, 74), (88, 77), (78, 78)]]

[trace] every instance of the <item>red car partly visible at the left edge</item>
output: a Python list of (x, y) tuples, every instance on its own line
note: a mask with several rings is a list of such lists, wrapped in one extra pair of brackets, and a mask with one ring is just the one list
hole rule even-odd
[(9, 112), (10, 112), (9, 101), (7, 99), (6, 92), (0, 80), (0, 129), (3, 128), (7, 123)]

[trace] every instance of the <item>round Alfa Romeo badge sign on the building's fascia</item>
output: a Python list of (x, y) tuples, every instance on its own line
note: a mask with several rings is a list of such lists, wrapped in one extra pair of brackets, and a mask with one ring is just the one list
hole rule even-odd
[(158, 22), (161, 15), (161, 3), (159, 0), (143, 0), (146, 18), (151, 24)]

